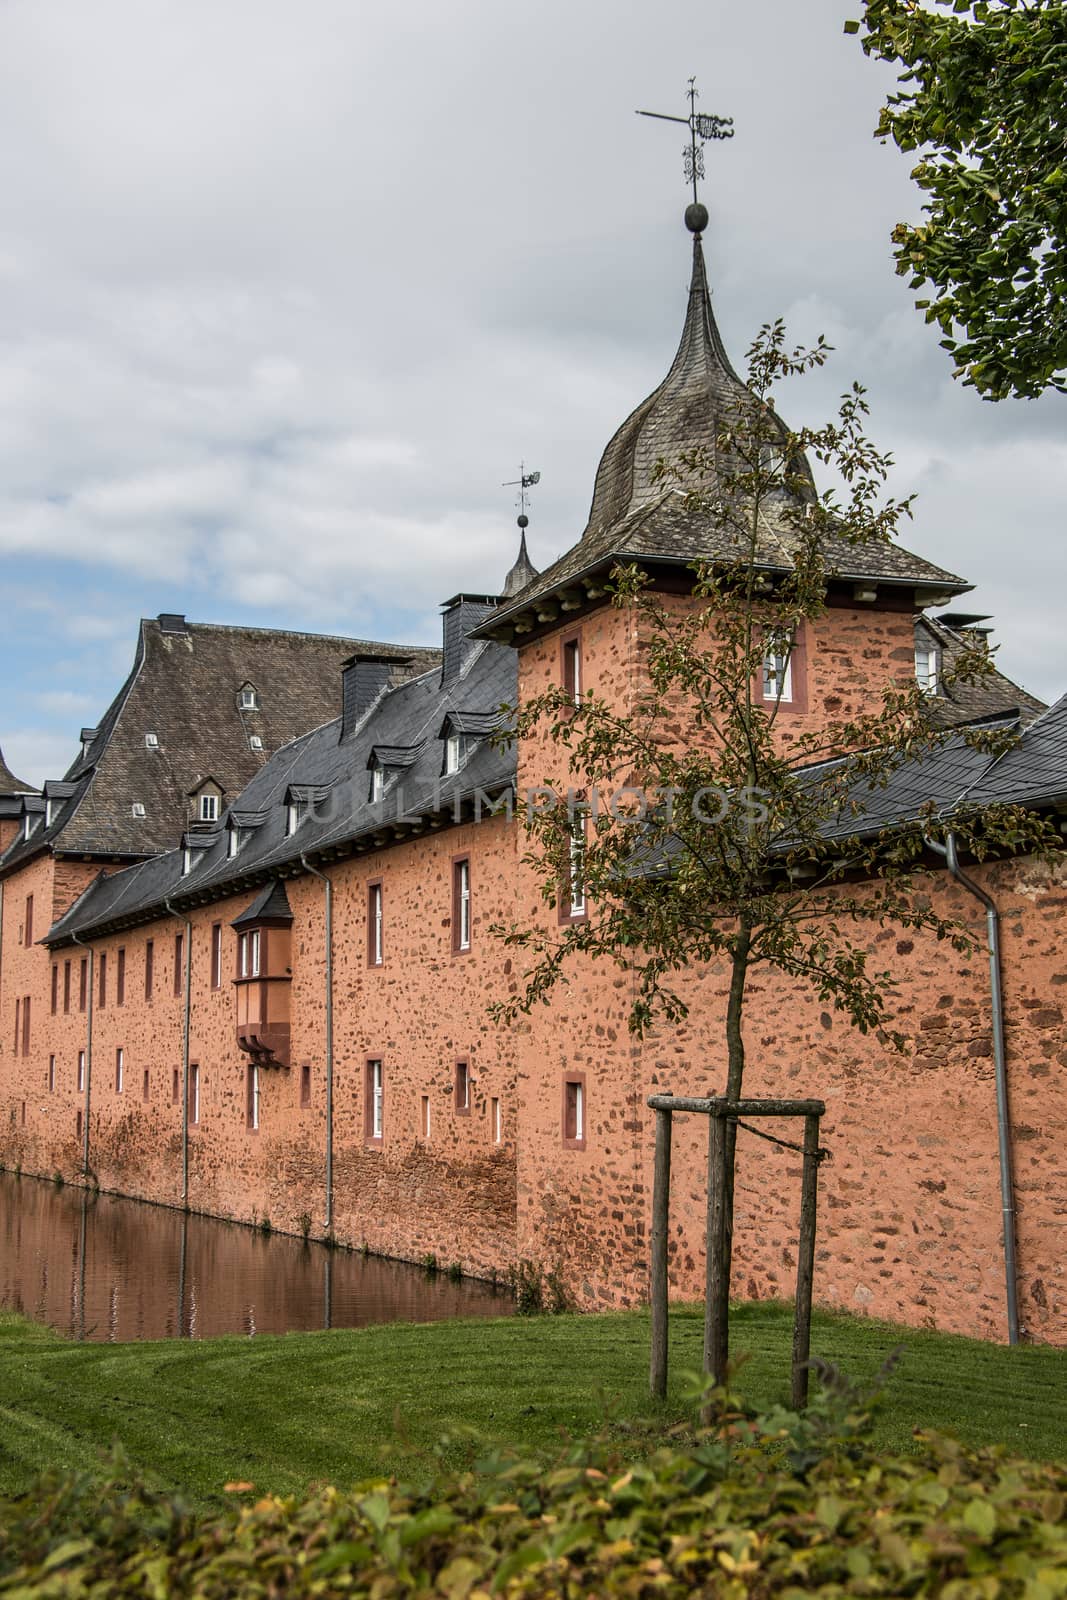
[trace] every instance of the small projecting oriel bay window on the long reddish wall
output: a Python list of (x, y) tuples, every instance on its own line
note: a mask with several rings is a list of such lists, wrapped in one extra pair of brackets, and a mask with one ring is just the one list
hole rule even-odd
[(256, 1069), (288, 1067), (293, 912), (282, 883), (261, 890), (234, 931), (238, 1048)]

